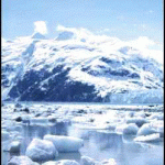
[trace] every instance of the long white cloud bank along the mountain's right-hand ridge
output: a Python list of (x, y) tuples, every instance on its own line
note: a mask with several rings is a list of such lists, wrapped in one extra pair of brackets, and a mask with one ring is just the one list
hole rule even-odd
[(130, 46), (138, 50), (142, 56), (152, 57), (158, 63), (163, 64), (163, 46), (160, 46), (158, 43), (154, 42), (147, 36), (139, 36), (138, 38), (131, 41), (121, 41), (118, 37), (111, 37), (106, 34), (94, 34), (84, 28), (77, 29), (58, 25), (56, 30), (58, 32), (73, 32), (74, 40), (80, 41), (81, 38), (85, 38), (86, 43), (92, 44), (92, 46), (96, 46), (106, 54), (113, 52), (116, 53), (121, 47)]

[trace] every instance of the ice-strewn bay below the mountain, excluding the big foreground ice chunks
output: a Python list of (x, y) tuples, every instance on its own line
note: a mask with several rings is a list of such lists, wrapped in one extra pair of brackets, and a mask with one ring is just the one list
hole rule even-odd
[[(46, 134), (73, 136), (84, 140), (78, 152), (59, 152), (52, 161), (75, 160), (80, 163), (81, 156), (97, 162), (112, 158), (117, 165), (161, 165), (163, 164), (163, 140), (156, 142), (134, 141), (139, 135), (124, 134), (123, 130), (132, 121), (140, 118), (153, 123), (156, 133), (164, 134), (162, 106), (112, 106), (92, 103), (48, 103), (21, 102), (29, 113), (15, 108), (14, 103), (2, 106), (2, 165), (7, 165), (11, 156), (25, 155), (33, 139), (43, 140)], [(15, 110), (16, 109), (16, 110)], [(23, 108), (22, 108), (23, 109)], [(143, 114), (143, 116), (142, 116)], [(20, 117), (20, 118), (18, 118)], [(15, 119), (19, 119), (15, 121)], [(12, 123), (12, 124), (8, 124)], [(12, 129), (10, 129), (12, 125)], [(19, 128), (19, 129), (18, 129)], [(140, 128), (139, 128), (140, 129)], [(118, 130), (116, 132), (116, 130)], [(161, 131), (160, 131), (161, 130)], [(20, 142), (20, 152), (10, 153), (12, 142)]]

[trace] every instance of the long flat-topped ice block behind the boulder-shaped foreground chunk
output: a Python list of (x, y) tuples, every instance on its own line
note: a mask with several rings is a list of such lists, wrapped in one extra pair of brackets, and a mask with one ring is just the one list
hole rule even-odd
[(52, 141), (58, 152), (78, 152), (84, 141), (78, 138), (46, 134), (44, 140)]

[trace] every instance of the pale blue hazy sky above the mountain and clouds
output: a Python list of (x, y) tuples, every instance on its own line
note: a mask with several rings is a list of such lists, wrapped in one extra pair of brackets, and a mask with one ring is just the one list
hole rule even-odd
[(47, 37), (55, 37), (62, 24), (163, 43), (163, 0), (2, 0), (2, 37), (31, 35), (36, 21), (45, 21)]

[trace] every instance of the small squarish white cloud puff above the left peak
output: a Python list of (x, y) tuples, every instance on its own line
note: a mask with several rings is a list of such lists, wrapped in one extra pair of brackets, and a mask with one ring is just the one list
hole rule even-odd
[(38, 32), (41, 34), (47, 34), (47, 26), (45, 21), (35, 21), (34, 22), (34, 32)]

